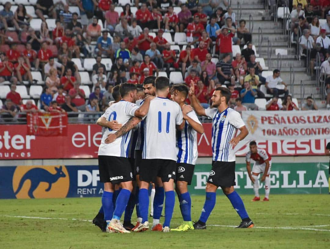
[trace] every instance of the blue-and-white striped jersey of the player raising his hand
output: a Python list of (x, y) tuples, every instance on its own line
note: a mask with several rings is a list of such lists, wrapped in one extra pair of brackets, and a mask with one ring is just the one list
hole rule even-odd
[(219, 112), (217, 108), (205, 109), (205, 114), (213, 119), (212, 152), (213, 161), (233, 162), (236, 160), (233, 146), (229, 143), (237, 129), (245, 126), (241, 114), (227, 108)]

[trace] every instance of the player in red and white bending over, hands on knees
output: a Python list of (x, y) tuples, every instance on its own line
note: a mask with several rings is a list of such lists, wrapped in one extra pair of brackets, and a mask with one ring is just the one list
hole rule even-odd
[[(259, 197), (259, 182), (258, 182), (258, 175), (262, 173), (261, 181), (265, 181), (265, 198), (262, 201), (269, 201), (269, 192), (270, 192), (270, 168), (272, 166), (272, 157), (268, 153), (268, 151), (264, 149), (260, 149), (257, 147), (257, 143), (255, 141), (250, 142), (250, 150), (246, 155), (246, 162), (247, 162), (247, 170), (248, 176), (250, 177), (253, 183), (253, 190), (254, 190), (254, 198), (252, 202), (260, 201)], [(251, 173), (251, 166), (250, 166), (250, 159), (254, 160), (252, 173)]]

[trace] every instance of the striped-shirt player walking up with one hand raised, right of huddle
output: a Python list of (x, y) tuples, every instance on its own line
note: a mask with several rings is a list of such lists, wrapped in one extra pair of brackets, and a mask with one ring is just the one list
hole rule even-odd
[[(206, 229), (216, 198), (216, 190), (221, 187), (242, 222), (237, 228), (252, 228), (253, 222), (248, 216), (244, 203), (234, 190), (235, 183), (235, 153), (234, 147), (248, 135), (240, 113), (228, 107), (231, 92), (228, 88), (216, 87), (211, 98), (212, 108), (204, 109), (195, 96), (194, 84), (189, 91), (191, 104), (198, 115), (212, 118), (212, 169), (206, 184), (206, 199), (201, 216), (194, 224), (196, 230)], [(235, 137), (237, 129), (240, 134)]]

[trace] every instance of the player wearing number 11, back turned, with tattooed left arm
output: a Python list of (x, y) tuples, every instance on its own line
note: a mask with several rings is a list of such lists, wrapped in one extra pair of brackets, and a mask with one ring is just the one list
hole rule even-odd
[[(170, 232), (170, 221), (173, 215), (175, 196), (174, 179), (176, 178), (176, 128), (184, 127), (180, 106), (166, 98), (169, 92), (169, 79), (157, 77), (155, 80), (156, 98), (150, 102), (144, 125), (144, 144), (140, 167), (139, 209), (141, 224), (133, 229), (141, 232), (149, 229), (149, 183), (157, 186), (163, 184), (165, 190), (165, 221), (162, 232)], [(107, 142), (125, 134), (135, 125), (123, 125), (116, 133), (108, 136)], [(125, 135), (123, 135), (125, 136)], [(164, 153), (166, 151), (166, 153)]]

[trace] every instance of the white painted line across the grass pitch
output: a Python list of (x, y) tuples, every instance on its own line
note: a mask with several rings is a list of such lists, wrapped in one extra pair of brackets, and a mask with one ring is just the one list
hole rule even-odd
[[(2, 215), (3, 217), (11, 217), (11, 218), (26, 218), (26, 219), (41, 219), (41, 220), (73, 220), (73, 221), (84, 221), (91, 222), (91, 220), (83, 220), (83, 219), (68, 219), (68, 218), (51, 218), (51, 217), (32, 217), (32, 216), (18, 216), (18, 215)], [(210, 227), (231, 227), (234, 228), (236, 226), (226, 226), (226, 225), (208, 225)], [(330, 225), (319, 225), (318, 227), (326, 227)], [(311, 226), (317, 227), (317, 226)], [(330, 232), (327, 229), (315, 229), (310, 227), (258, 227), (254, 226), (255, 229), (283, 229), (283, 230), (311, 230), (311, 231), (322, 231), (322, 232)]]

